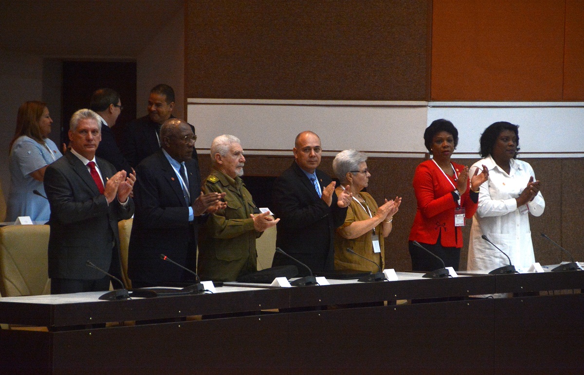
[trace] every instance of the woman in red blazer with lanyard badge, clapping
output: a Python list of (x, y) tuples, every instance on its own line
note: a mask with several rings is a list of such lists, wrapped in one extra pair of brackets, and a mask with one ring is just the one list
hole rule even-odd
[(442, 263), (413, 245), (418, 241), (446, 264), (458, 270), (460, 248), (463, 247), (461, 227), (465, 218), (477, 210), (478, 189), (488, 179), (489, 172), (468, 178), (468, 167), (450, 161), (458, 144), (458, 130), (444, 119), (434, 120), (424, 132), (424, 143), (432, 159), (422, 162), (413, 176), (413, 189), (418, 211), (409, 234), (409, 254), (412, 270), (433, 271)]

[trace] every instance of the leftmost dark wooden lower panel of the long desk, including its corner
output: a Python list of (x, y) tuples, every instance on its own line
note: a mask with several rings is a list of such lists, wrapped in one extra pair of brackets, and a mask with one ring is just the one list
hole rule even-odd
[[(25, 374), (286, 373), (287, 315), (62, 332), (0, 332), (0, 371)], [(9, 340), (9, 341), (8, 341)], [(7, 348), (10, 350), (7, 350)]]

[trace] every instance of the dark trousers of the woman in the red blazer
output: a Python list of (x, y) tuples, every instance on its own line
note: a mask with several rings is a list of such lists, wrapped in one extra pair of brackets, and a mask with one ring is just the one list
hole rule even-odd
[[(452, 267), (458, 271), (458, 263), (460, 263), (460, 249), (456, 247), (444, 247), (440, 244), (440, 237), (436, 244), (422, 244), (429, 251), (444, 261), (446, 267)], [(409, 255), (412, 257), (412, 271), (430, 272), (442, 268), (442, 262), (434, 256), (428, 254), (423, 249), (414, 245), (409, 241)]]

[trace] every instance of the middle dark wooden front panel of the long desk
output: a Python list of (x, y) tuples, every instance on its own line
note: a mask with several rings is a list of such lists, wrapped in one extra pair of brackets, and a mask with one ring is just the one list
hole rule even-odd
[(494, 311), (473, 300), (291, 314), (291, 371), (491, 372)]

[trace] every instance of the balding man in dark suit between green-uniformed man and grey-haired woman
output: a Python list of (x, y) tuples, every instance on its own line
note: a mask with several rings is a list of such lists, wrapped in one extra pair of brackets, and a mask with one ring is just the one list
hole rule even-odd
[[(333, 270), (333, 234), (345, 222), (352, 195), (335, 193), (335, 182), (320, 171), (321, 138), (312, 131), (298, 134), (294, 142), (294, 162), (275, 181), (273, 213), (277, 224), (276, 246), (313, 271)], [(272, 266), (296, 265), (276, 253)], [(308, 270), (298, 267), (300, 276)]]

